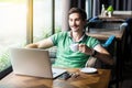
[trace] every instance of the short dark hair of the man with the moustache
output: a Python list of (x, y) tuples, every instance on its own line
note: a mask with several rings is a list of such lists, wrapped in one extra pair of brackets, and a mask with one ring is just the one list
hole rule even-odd
[(87, 19), (87, 13), (85, 10), (79, 9), (79, 8), (72, 8), (68, 12), (68, 15), (72, 13), (79, 13), (81, 19), (85, 21)]

